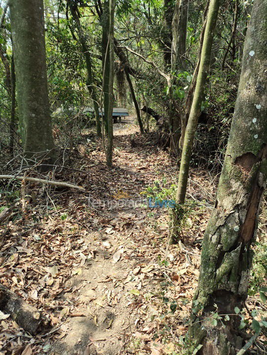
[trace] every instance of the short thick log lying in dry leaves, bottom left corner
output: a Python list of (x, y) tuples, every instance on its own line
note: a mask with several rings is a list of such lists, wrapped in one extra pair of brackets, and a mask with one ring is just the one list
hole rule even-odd
[(19, 326), (32, 335), (50, 327), (50, 321), (37, 308), (29, 305), (16, 293), (0, 284), (0, 310), (10, 314)]

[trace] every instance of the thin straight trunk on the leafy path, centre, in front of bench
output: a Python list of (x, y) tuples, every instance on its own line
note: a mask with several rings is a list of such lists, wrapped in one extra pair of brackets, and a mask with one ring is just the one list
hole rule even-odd
[(107, 144), (107, 165), (112, 167), (113, 155), (113, 84), (114, 84), (114, 9), (115, 0), (110, 0), (110, 75), (109, 75), (109, 115), (108, 115), (108, 144)]

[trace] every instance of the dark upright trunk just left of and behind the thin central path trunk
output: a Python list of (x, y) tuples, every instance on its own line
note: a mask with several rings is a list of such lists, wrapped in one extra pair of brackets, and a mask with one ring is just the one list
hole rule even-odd
[(109, 48), (109, 0), (104, 0), (103, 13), (101, 16), (102, 23), (102, 71), (103, 71), (103, 95), (104, 95), (104, 125), (105, 131), (108, 133), (108, 112), (109, 112), (109, 82), (110, 82), (110, 48)]

